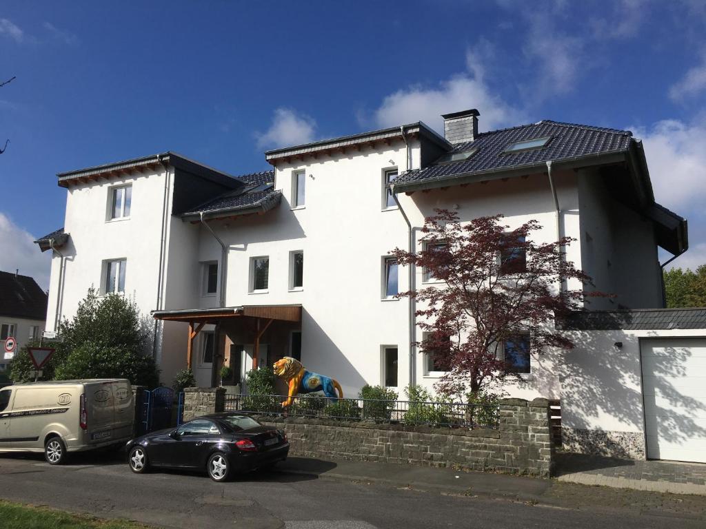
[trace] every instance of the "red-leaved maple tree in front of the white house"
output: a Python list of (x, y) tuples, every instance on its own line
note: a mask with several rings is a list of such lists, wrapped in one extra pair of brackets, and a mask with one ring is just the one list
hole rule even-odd
[(438, 391), (478, 394), (519, 377), (504, 353), (505, 343), (520, 342), (517, 336), (533, 356), (573, 347), (555, 329), (555, 318), (580, 308), (585, 296), (606, 295), (561, 288), (571, 279), (590, 284), (565, 259), (570, 238), (538, 243), (532, 233), (541, 226), (534, 220), (509, 230), (501, 215), (462, 224), (455, 212), (435, 212), (425, 219), (418, 253), (391, 253), (400, 265), (421, 267), (427, 280), (440, 282), (398, 294), (419, 303), (417, 325), (426, 337), (417, 346), (445, 372)]

